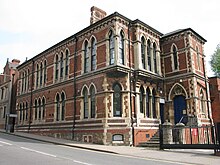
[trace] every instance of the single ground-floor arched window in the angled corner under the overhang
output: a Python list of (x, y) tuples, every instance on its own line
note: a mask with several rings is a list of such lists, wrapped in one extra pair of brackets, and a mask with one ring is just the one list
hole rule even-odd
[(116, 83), (113, 86), (114, 96), (113, 96), (113, 116), (121, 117), (122, 116), (122, 107), (121, 107), (121, 86)]

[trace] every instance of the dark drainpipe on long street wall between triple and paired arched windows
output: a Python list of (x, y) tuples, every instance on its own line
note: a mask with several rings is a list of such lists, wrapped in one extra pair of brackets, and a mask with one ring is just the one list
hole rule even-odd
[(76, 70), (77, 70), (77, 41), (78, 38), (75, 36), (75, 52), (74, 52), (74, 78), (73, 78), (73, 89), (74, 89), (74, 107), (73, 107), (73, 128), (72, 128), (72, 140), (75, 138), (75, 125), (76, 125), (76, 96), (77, 96), (77, 91), (76, 91)]

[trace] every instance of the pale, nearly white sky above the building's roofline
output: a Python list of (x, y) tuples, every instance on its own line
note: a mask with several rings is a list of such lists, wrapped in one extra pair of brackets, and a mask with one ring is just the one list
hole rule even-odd
[(7, 58), (23, 63), (89, 26), (92, 6), (139, 19), (163, 34), (192, 28), (207, 40), (207, 73), (213, 75), (209, 61), (220, 43), (219, 0), (0, 0), (0, 73)]

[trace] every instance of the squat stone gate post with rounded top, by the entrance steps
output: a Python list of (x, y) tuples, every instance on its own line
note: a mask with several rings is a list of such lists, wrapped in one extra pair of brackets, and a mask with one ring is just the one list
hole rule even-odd
[(168, 121), (163, 123), (163, 143), (164, 144), (173, 143), (172, 124)]

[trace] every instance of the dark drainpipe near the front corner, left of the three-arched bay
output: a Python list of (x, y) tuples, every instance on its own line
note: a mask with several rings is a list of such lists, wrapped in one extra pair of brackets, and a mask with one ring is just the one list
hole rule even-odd
[[(132, 134), (132, 143), (131, 143), (131, 146), (134, 146), (135, 144), (135, 141), (134, 141), (134, 118), (133, 118), (133, 114), (132, 114), (132, 79), (131, 79), (131, 68), (132, 68), (132, 65), (131, 65), (131, 40), (130, 40), (130, 27), (131, 27), (131, 23), (129, 22), (128, 24), (128, 57), (129, 57), (129, 83), (130, 83), (130, 116), (131, 116), (131, 134)], [(134, 83), (134, 82), (133, 82)]]

